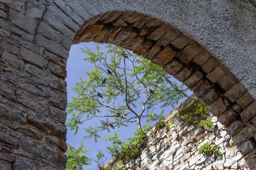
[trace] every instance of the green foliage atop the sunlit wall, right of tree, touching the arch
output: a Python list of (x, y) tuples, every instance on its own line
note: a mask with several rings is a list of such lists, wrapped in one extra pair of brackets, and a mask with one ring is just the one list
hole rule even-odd
[(208, 106), (204, 106), (201, 103), (196, 103), (196, 110), (192, 113), (185, 113), (181, 115), (180, 113), (175, 114), (175, 118), (180, 118), (186, 122), (198, 125), (198, 127), (213, 128), (213, 122), (209, 117)]

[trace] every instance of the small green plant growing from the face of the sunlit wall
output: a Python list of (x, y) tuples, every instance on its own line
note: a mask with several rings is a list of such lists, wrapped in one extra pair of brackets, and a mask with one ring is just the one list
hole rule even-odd
[(201, 147), (198, 149), (199, 154), (207, 155), (207, 156), (212, 156), (215, 154), (218, 158), (221, 158), (221, 153), (220, 153), (220, 146), (215, 144), (215, 145), (209, 145), (209, 143), (203, 144)]

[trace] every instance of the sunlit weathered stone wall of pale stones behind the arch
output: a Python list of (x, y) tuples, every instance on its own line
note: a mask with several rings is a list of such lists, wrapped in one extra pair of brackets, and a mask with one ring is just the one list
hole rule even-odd
[[(165, 116), (166, 123), (174, 120), (175, 125), (160, 129), (153, 126), (146, 133), (147, 137), (142, 144), (144, 149), (139, 157), (127, 164), (121, 164), (118, 159), (113, 158), (105, 165), (111, 170), (116, 167), (125, 170), (247, 170), (239, 152), (246, 148), (236, 147), (215, 116), (211, 114), (215, 127), (208, 130), (174, 118), (177, 112), (182, 115), (195, 111), (195, 103), (199, 101), (186, 99)], [(221, 158), (198, 154), (198, 148), (207, 142), (220, 146)]]

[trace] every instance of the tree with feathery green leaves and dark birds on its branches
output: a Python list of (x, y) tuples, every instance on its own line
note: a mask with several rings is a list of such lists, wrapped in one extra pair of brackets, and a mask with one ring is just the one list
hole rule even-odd
[[(72, 114), (67, 127), (75, 130), (79, 125), (98, 118), (100, 125), (87, 127), (85, 138), (100, 137), (99, 132), (128, 126), (137, 122), (142, 129), (141, 120), (157, 121), (164, 110), (155, 112), (155, 106), (174, 107), (186, 96), (183, 85), (171, 81), (171, 76), (148, 59), (131, 54), (119, 46), (107, 45), (107, 51), (100, 51), (96, 43), (96, 53), (89, 48), (81, 49), (87, 56), (84, 61), (93, 66), (86, 72), (89, 80), (80, 78), (72, 91), (77, 96), (67, 103), (67, 113)], [(84, 118), (85, 116), (85, 118)]]

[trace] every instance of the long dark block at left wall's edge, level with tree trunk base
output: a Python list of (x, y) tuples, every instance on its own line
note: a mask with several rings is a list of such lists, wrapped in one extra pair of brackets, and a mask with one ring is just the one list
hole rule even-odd
[(62, 139), (66, 139), (67, 128), (62, 123), (53, 121), (33, 111), (27, 113), (27, 123), (38, 127), (46, 133), (50, 133)]

